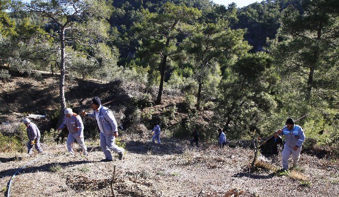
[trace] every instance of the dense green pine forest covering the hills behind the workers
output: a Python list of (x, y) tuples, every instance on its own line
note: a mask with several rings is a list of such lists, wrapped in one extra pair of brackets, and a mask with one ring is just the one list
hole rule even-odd
[[(131, 114), (182, 96), (178, 136), (194, 127), (205, 139), (218, 127), (231, 139), (269, 136), (309, 114), (298, 122), (307, 142), (338, 151), (338, 44), (337, 0), (0, 1), (3, 83), (11, 73), (60, 73), (61, 112), (72, 77), (135, 82), (142, 105)], [(207, 124), (197, 121), (204, 111)]]

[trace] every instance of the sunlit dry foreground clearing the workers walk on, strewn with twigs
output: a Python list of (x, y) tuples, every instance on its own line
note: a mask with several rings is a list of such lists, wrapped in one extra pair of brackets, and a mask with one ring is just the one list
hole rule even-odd
[[(259, 169), (249, 172), (253, 151), (241, 147), (220, 149), (203, 144), (192, 148), (188, 141), (163, 138), (163, 144), (147, 139), (131, 141), (123, 136), (122, 161), (100, 162), (98, 141), (87, 142), (89, 156), (67, 156), (65, 144), (43, 144), (45, 155), (0, 153), (0, 188), (11, 196), (338, 196), (339, 162), (302, 154), (300, 166), (276, 173), (281, 157), (264, 158)], [(76, 146), (75, 146), (76, 147)], [(199, 194), (200, 193), (200, 194)]]

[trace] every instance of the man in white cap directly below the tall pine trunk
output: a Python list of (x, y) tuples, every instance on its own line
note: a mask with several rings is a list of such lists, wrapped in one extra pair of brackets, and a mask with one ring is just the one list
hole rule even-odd
[(69, 133), (67, 136), (67, 150), (71, 155), (74, 155), (74, 150), (72, 149), (72, 144), (74, 139), (78, 142), (84, 156), (87, 156), (87, 147), (84, 143), (83, 137), (83, 123), (81, 117), (73, 113), (72, 109), (65, 109), (64, 122), (58, 128), (58, 131), (67, 127)]

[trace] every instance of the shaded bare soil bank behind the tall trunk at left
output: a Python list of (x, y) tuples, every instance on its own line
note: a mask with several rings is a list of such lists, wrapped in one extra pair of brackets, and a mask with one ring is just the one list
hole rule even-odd
[[(46, 114), (58, 109), (59, 75), (51, 74), (13, 74), (7, 82), (0, 81), (0, 121), (6, 121), (8, 116), (24, 116), (27, 113)], [(127, 94), (124, 89), (132, 90), (133, 84), (122, 89), (120, 81), (101, 83), (95, 80), (67, 79), (65, 82), (65, 97), (67, 106), (75, 111), (89, 109), (89, 101), (94, 96), (100, 96), (103, 103), (113, 98)], [(115, 104), (118, 104), (117, 100)]]

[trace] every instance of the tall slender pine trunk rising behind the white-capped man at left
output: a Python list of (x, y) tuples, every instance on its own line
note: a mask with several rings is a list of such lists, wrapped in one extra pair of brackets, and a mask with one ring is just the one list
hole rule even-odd
[(64, 110), (66, 108), (66, 99), (65, 99), (65, 30), (62, 29), (60, 32), (60, 44), (61, 44), (61, 59), (60, 59), (60, 81), (59, 81), (59, 96), (60, 96), (60, 114), (58, 125), (61, 125), (64, 117)]

